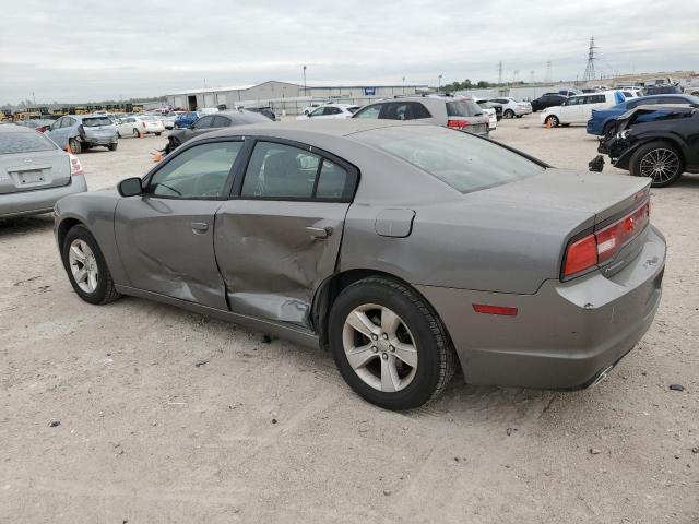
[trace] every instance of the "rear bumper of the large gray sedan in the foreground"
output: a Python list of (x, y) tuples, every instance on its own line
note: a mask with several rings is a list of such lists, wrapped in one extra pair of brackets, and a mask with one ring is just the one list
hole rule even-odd
[[(650, 327), (661, 299), (665, 240), (650, 228), (639, 255), (607, 278), (546, 281), (534, 295), (418, 286), (445, 322), (466, 382), (543, 389), (590, 385)], [(478, 314), (473, 303), (518, 308)]]

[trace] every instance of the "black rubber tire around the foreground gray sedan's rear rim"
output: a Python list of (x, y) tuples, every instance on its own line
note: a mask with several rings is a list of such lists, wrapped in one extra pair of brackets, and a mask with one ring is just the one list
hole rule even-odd
[[(410, 330), (417, 350), (417, 366), (412, 381), (400, 391), (389, 393), (372, 388), (347, 360), (343, 342), (345, 320), (363, 305), (391, 309)], [(332, 306), (329, 340), (337, 369), (347, 384), (366, 401), (387, 409), (413, 409), (430, 402), (442, 392), (457, 368), (451, 340), (435, 311), (414, 289), (390, 278), (372, 276), (346, 287)], [(381, 358), (377, 360), (380, 365)]]

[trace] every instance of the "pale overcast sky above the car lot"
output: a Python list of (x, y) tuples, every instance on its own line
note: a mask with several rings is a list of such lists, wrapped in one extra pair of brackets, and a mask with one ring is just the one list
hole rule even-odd
[[(94, 4), (94, 8), (88, 5)], [(80, 9), (76, 9), (80, 5)], [(554, 80), (699, 70), (697, 0), (0, 0), (0, 104), (266, 80)], [(516, 75), (516, 71), (518, 71)], [(531, 73), (534, 71), (534, 73)]]

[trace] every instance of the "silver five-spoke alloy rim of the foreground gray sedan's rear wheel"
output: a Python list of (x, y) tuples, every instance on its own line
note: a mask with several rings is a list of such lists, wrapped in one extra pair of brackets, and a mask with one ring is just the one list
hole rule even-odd
[(355, 308), (345, 319), (342, 342), (352, 369), (375, 390), (401, 391), (415, 378), (415, 338), (403, 319), (384, 306)]

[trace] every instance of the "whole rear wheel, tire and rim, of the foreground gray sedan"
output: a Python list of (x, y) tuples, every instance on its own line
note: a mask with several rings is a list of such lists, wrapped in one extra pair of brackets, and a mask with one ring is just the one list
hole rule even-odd
[(457, 357), (441, 321), (408, 286), (368, 277), (333, 303), (330, 346), (345, 381), (366, 401), (412, 409), (435, 398)]

